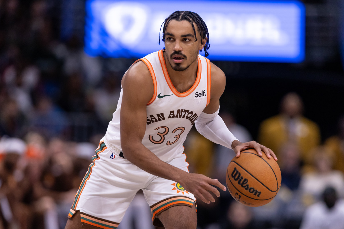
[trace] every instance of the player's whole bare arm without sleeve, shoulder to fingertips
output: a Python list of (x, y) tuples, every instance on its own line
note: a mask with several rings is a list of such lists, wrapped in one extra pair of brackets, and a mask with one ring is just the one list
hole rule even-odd
[(120, 114), (121, 146), (124, 157), (142, 170), (165, 179), (179, 182), (187, 191), (205, 203), (214, 202), (211, 191), (219, 196), (217, 188), (226, 188), (217, 180), (202, 174), (187, 173), (161, 161), (142, 144), (146, 131), (147, 103), (153, 96), (153, 82), (143, 62), (132, 66), (122, 80), (123, 97)]

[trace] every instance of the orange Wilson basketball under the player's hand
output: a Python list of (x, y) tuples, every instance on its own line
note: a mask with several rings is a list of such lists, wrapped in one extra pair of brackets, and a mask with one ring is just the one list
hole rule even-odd
[(248, 149), (229, 162), (226, 173), (228, 191), (241, 204), (258, 207), (272, 201), (281, 186), (277, 162), (262, 152)]

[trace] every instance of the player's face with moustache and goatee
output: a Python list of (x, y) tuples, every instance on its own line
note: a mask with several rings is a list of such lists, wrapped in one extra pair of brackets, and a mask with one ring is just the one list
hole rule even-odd
[(192, 25), (189, 21), (171, 20), (165, 31), (166, 58), (175, 71), (184, 71), (193, 64), (198, 57), (198, 52), (203, 49), (198, 27), (194, 23), (197, 41)]

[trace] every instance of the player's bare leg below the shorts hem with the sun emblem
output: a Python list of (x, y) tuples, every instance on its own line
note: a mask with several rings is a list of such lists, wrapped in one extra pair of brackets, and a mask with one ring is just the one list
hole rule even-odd
[(196, 229), (196, 215), (196, 204), (194, 204), (192, 207), (178, 205), (164, 210), (157, 216), (157, 218), (162, 222), (165, 229)]

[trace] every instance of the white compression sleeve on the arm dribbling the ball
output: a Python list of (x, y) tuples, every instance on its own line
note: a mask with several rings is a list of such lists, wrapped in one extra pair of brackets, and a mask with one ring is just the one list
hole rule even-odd
[(232, 149), (232, 142), (238, 139), (230, 133), (226, 124), (218, 115), (219, 111), (220, 108), (213, 114), (202, 112), (195, 122), (195, 127), (198, 133), (212, 142)]

